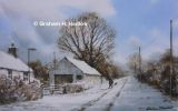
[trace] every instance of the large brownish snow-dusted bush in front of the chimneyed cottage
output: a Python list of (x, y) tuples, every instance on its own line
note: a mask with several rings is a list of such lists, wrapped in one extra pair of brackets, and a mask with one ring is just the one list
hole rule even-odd
[(38, 82), (27, 84), (18, 78), (11, 80), (0, 75), (0, 104), (39, 98), (41, 98), (41, 89)]

